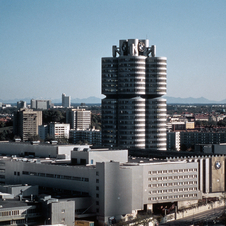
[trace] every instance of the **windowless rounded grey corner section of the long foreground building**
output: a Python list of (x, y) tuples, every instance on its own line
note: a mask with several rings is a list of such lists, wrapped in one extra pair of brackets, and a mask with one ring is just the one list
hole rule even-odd
[(103, 162), (96, 165), (96, 211), (98, 219), (108, 221), (109, 217), (120, 219), (132, 212), (132, 171), (120, 168), (117, 162)]

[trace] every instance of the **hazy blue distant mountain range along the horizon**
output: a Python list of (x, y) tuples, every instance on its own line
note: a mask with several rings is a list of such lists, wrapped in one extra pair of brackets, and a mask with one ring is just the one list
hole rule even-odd
[[(167, 99), (168, 104), (226, 104), (226, 99), (222, 101), (214, 101), (214, 100), (208, 100), (204, 97), (200, 98), (193, 98), (193, 97), (188, 97), (188, 98), (180, 98), (180, 97), (169, 97), (169, 96), (164, 96), (163, 98)], [(9, 104), (16, 104), (17, 101), (23, 100), (26, 101), (28, 104), (30, 104), (32, 98), (24, 98), (24, 99), (11, 99), (11, 100), (2, 100), (0, 99), (0, 102), (2, 103), (9, 103)], [(39, 98), (34, 98), (34, 99), (39, 99)], [(60, 104), (61, 99), (52, 99), (52, 103), (54, 104)], [(81, 103), (86, 103), (86, 104), (100, 104), (101, 103), (101, 98), (98, 97), (88, 97), (88, 98), (74, 98), (71, 100), (72, 104), (81, 104)]]

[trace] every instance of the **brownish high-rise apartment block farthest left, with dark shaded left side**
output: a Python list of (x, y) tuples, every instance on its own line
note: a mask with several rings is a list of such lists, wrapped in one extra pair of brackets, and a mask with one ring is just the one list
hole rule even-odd
[(42, 111), (25, 108), (14, 112), (13, 133), (23, 141), (38, 135), (39, 125), (42, 125)]

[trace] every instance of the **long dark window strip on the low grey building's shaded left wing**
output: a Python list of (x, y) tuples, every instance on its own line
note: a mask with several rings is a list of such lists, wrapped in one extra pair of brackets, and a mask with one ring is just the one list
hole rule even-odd
[(50, 178), (85, 181), (85, 182), (89, 181), (89, 178), (85, 178), (85, 177), (73, 177), (73, 176), (66, 176), (66, 175), (58, 175), (58, 174), (50, 174), (50, 173), (36, 173), (36, 172), (28, 172), (28, 171), (23, 171), (22, 173), (23, 173), (23, 175), (29, 175), (29, 176), (50, 177)]

